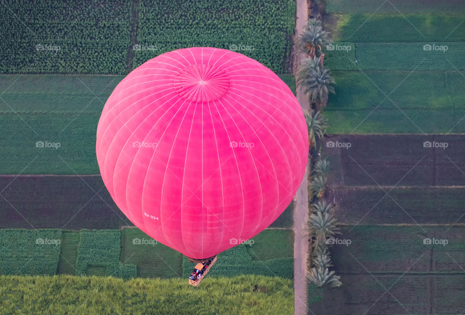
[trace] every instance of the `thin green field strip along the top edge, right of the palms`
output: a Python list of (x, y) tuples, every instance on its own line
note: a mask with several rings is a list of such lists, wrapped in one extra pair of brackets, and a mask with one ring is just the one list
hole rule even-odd
[[(389, 3), (390, 2), (390, 3)], [(449, 13), (465, 12), (464, 0), (326, 0), (328, 13)]]

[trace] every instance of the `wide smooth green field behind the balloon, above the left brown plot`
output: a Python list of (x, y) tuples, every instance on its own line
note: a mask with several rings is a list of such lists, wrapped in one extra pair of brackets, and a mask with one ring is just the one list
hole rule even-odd
[[(280, 78), (295, 93), (294, 76)], [(108, 96), (122, 79), (0, 76), (0, 87), (6, 90), (1, 95), (6, 103), (1, 101), (0, 105), (0, 133), (4, 135), (0, 140), (0, 173), (98, 174), (98, 120)], [(60, 146), (37, 147), (37, 142)]]

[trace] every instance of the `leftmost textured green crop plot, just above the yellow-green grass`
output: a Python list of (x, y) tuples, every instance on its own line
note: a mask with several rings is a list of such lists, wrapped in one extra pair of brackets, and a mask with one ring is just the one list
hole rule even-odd
[(61, 234), (58, 229), (0, 230), (0, 274), (54, 275)]

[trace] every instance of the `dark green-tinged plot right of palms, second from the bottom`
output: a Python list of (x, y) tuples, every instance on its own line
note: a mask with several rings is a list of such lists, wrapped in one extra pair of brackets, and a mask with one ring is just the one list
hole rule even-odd
[(368, 269), (402, 274), (408, 269), (409, 273), (465, 274), (460, 268), (465, 263), (464, 232), (465, 226), (349, 225), (341, 227), (337, 238), (350, 244), (330, 245), (330, 251), (339, 273)]

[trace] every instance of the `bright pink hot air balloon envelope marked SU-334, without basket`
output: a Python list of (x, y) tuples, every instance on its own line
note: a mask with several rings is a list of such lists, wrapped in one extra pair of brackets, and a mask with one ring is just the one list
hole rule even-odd
[(308, 149), (288, 86), (263, 64), (210, 47), (133, 70), (105, 104), (96, 143), (103, 181), (129, 220), (199, 260), (279, 217)]

